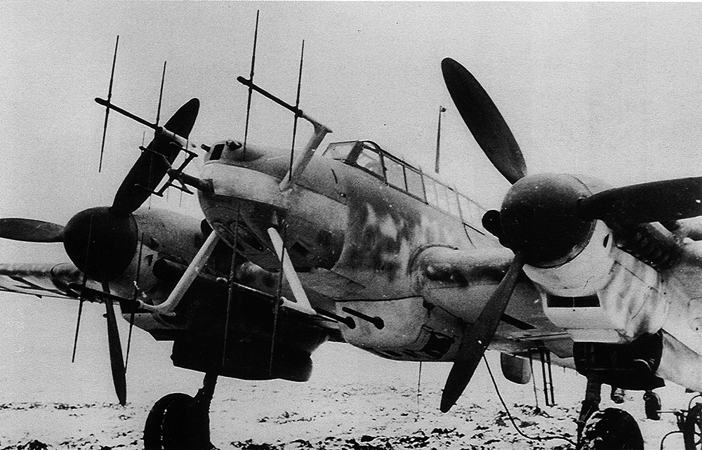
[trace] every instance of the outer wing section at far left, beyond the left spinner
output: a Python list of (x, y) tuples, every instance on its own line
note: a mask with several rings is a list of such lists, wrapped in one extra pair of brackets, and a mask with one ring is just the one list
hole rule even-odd
[[(69, 287), (81, 284), (83, 272), (71, 263), (0, 264), (0, 291), (25, 293), (37, 297), (78, 298), (79, 293)], [(100, 289), (88, 280), (86, 286)]]

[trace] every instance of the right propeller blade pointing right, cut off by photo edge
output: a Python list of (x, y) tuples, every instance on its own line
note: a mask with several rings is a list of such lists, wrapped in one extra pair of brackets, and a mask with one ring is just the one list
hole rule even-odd
[(702, 215), (702, 178), (677, 178), (614, 187), (582, 199), (587, 219), (615, 223), (669, 222)]

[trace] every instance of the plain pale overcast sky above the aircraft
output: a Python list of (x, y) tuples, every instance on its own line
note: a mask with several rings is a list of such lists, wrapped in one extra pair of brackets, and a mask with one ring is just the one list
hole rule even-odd
[[(333, 129), (322, 148), (370, 139), (431, 170), (444, 105), (442, 175), (497, 207), (509, 185), (453, 107), (449, 56), (490, 93), (531, 173), (613, 185), (700, 175), (700, 4), (3, 2), (0, 216), (65, 224), (112, 203), (144, 131), (111, 114), (97, 173), (104, 110), (93, 98), (107, 95), (117, 34), (114, 103), (153, 120), (167, 60), (164, 119), (198, 97), (195, 142), (243, 138), (236, 77), (249, 74), (257, 9), (256, 82), (293, 102), (305, 39), (301, 107)], [(258, 96), (252, 121), (252, 142), (290, 146), (289, 112)], [(179, 203), (172, 192), (169, 207)], [(32, 245), (22, 256), (36, 256)], [(4, 258), (15, 248), (0, 242)]]

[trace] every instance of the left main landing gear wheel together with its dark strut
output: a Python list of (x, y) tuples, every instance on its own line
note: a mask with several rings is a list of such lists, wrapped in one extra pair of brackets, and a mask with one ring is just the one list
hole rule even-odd
[(216, 373), (206, 373), (195, 397), (174, 393), (161, 397), (144, 428), (145, 450), (213, 450), (210, 442), (210, 402)]

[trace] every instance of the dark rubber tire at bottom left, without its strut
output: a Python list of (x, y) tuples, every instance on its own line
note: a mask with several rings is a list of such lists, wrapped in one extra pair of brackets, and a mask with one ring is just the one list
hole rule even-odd
[(144, 450), (191, 449), (187, 439), (187, 416), (183, 414), (193, 397), (176, 392), (154, 404), (144, 426)]

